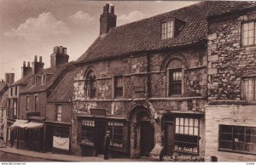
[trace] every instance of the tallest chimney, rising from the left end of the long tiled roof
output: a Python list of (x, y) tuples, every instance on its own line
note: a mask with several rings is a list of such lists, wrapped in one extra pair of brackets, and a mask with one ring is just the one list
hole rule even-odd
[(100, 35), (107, 34), (108, 31), (116, 26), (116, 14), (114, 14), (114, 6), (110, 6), (109, 12), (109, 4), (107, 3), (103, 7), (103, 13), (100, 17)]

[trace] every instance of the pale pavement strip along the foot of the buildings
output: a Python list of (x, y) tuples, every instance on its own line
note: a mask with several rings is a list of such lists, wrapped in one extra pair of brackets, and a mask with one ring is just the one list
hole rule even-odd
[(64, 154), (53, 154), (51, 152), (38, 152), (38, 151), (26, 151), (11, 148), (9, 146), (5, 148), (0, 148), (0, 151), (16, 154), (20, 156), (29, 156), (35, 158), (46, 159), (49, 161), (56, 162), (148, 162), (147, 158), (110, 158), (109, 160), (104, 160), (103, 156), (73, 156)]

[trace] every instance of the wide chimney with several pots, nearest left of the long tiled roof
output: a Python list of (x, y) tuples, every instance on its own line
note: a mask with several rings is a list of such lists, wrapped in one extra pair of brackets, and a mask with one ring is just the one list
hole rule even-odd
[(53, 54), (50, 54), (50, 67), (68, 63), (67, 48), (55, 46)]

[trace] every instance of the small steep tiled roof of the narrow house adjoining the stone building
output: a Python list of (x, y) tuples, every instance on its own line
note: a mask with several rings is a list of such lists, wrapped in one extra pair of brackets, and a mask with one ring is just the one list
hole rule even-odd
[(73, 77), (74, 72), (69, 71), (55, 88), (52, 94), (50, 94), (48, 102), (71, 102), (73, 98)]

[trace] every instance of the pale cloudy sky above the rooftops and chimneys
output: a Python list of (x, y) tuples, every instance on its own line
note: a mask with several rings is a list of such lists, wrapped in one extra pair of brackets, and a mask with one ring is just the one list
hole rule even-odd
[(99, 36), (106, 3), (114, 5), (117, 26), (196, 3), (195, 1), (0, 0), (0, 79), (21, 77), (23, 61), (42, 56), (44, 68), (55, 46), (77, 60)]

